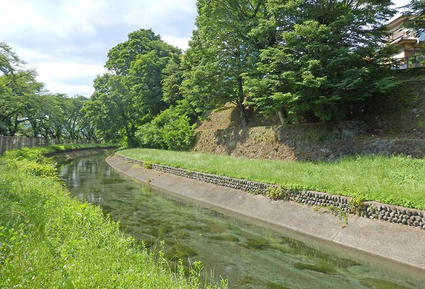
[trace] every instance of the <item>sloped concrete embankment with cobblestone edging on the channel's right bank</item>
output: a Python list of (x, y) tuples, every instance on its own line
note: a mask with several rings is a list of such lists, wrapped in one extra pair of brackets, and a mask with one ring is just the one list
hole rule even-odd
[[(414, 227), (413, 224), (412, 226), (397, 226), (389, 220), (371, 219), (371, 217), (383, 219), (387, 213), (394, 213), (395, 209), (399, 210), (397, 211), (397, 220), (406, 220), (407, 223), (412, 216), (415, 217), (415, 221), (416, 217), (424, 217), (425, 212), (423, 211), (408, 210), (409, 213), (407, 213), (405, 208), (370, 204), (369, 209), (366, 209), (368, 218), (350, 214), (345, 223), (338, 217), (325, 213), (326, 210), (323, 208), (313, 210), (311, 207), (294, 201), (301, 200), (306, 204), (312, 204), (311, 202), (313, 204), (329, 204), (329, 206), (337, 206), (344, 210), (349, 201), (346, 197), (331, 196), (320, 192), (303, 192), (290, 196), (292, 201), (271, 201), (262, 195), (246, 193), (255, 188), (267, 189), (269, 186), (267, 184), (191, 172), (157, 164), (152, 164), (150, 169), (147, 169), (143, 166), (143, 162), (119, 154), (107, 158), (107, 163), (137, 180), (196, 200), (206, 206), (212, 205), (299, 233), (425, 269), (424, 230), (417, 229), (418, 227)], [(375, 208), (373, 213), (370, 213), (371, 208)], [(382, 211), (384, 213), (381, 213)], [(411, 214), (411, 216), (407, 214)], [(412, 222), (414, 221), (412, 220)], [(400, 223), (402, 224), (403, 221)]]

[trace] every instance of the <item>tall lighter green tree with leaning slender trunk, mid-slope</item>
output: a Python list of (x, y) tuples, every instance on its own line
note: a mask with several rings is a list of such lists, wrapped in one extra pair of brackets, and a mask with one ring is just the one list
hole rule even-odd
[(258, 26), (264, 1), (199, 0), (197, 7), (197, 31), (186, 53), (191, 70), (182, 84), (185, 97), (206, 107), (231, 102), (246, 126), (244, 82), (246, 76), (255, 73), (260, 48), (250, 31)]

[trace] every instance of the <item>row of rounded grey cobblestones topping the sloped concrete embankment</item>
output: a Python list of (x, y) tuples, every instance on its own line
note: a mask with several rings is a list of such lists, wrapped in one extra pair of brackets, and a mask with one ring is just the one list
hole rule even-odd
[[(127, 157), (119, 153), (115, 153), (115, 156), (127, 162), (139, 164), (141, 166), (144, 164), (141, 160)], [(190, 171), (159, 164), (151, 164), (149, 167), (150, 169), (162, 171), (164, 173), (203, 181), (219, 186), (239, 189), (251, 193), (263, 192), (269, 188), (279, 188), (277, 185)], [(325, 192), (290, 190), (286, 191), (286, 196), (284, 199), (306, 205), (324, 207), (332, 206), (345, 212), (350, 212), (350, 209), (352, 209), (350, 208), (352, 206), (350, 205), (349, 197), (330, 195)], [(357, 213), (366, 218), (403, 224), (425, 230), (425, 211), (381, 204), (378, 202), (364, 202), (363, 205), (356, 208), (356, 210)]]

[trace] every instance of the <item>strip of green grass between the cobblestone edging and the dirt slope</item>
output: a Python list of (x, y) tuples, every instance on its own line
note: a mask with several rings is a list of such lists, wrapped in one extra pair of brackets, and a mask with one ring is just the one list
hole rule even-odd
[(119, 153), (150, 163), (425, 210), (425, 158), (367, 155), (329, 163), (143, 148)]

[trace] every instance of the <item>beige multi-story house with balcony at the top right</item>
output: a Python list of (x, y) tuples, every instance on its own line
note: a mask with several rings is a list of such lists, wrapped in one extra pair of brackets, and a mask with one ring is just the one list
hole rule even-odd
[(393, 58), (400, 59), (403, 63), (398, 69), (422, 66), (422, 61), (425, 60), (425, 56), (421, 55), (425, 34), (417, 37), (412, 29), (403, 27), (406, 19), (406, 16), (400, 16), (386, 25), (391, 33), (388, 43), (397, 44), (398, 47), (398, 53)]

